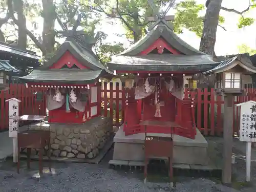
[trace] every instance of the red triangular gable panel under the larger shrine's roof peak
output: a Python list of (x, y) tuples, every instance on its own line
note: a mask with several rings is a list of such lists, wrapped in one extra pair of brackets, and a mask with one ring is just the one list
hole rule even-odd
[(174, 55), (181, 54), (179, 51), (170, 46), (163, 38), (159, 37), (150, 47), (142, 51), (139, 55), (147, 55), (148, 53), (151, 53), (154, 49), (157, 49), (158, 53), (162, 54), (164, 48)]

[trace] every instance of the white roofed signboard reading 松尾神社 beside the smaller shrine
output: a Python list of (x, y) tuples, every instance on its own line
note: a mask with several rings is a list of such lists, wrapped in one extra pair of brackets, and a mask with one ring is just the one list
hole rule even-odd
[(9, 137), (17, 138), (18, 136), (18, 104), (20, 100), (12, 98), (6, 100), (9, 102)]

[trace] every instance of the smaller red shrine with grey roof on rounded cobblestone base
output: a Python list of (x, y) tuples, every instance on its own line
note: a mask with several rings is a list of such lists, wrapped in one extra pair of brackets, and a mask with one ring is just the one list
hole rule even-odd
[[(78, 33), (78, 31), (77, 31)], [(113, 132), (112, 121), (100, 117), (99, 78), (113, 73), (91, 50), (93, 41), (82, 35), (68, 37), (55, 55), (29, 75), (20, 77), (28, 87), (42, 87), (48, 121), (33, 129), (50, 129), (50, 148), (57, 157), (94, 158)]]

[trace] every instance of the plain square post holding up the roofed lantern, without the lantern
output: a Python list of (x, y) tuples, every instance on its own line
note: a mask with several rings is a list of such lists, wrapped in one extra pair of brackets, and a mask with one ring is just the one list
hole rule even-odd
[(232, 143), (233, 143), (233, 96), (224, 96), (224, 128), (223, 128), (223, 169), (222, 182), (231, 183)]

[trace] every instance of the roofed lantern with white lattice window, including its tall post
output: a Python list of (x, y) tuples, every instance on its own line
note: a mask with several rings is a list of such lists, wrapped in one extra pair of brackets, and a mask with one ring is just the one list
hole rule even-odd
[(256, 73), (248, 54), (239, 54), (233, 58), (220, 62), (220, 64), (203, 75), (214, 74), (219, 77), (216, 85), (217, 94), (224, 97), (223, 117), (223, 169), (222, 182), (231, 183), (232, 173), (232, 142), (233, 142), (233, 110), (234, 96), (244, 96), (243, 76)]

